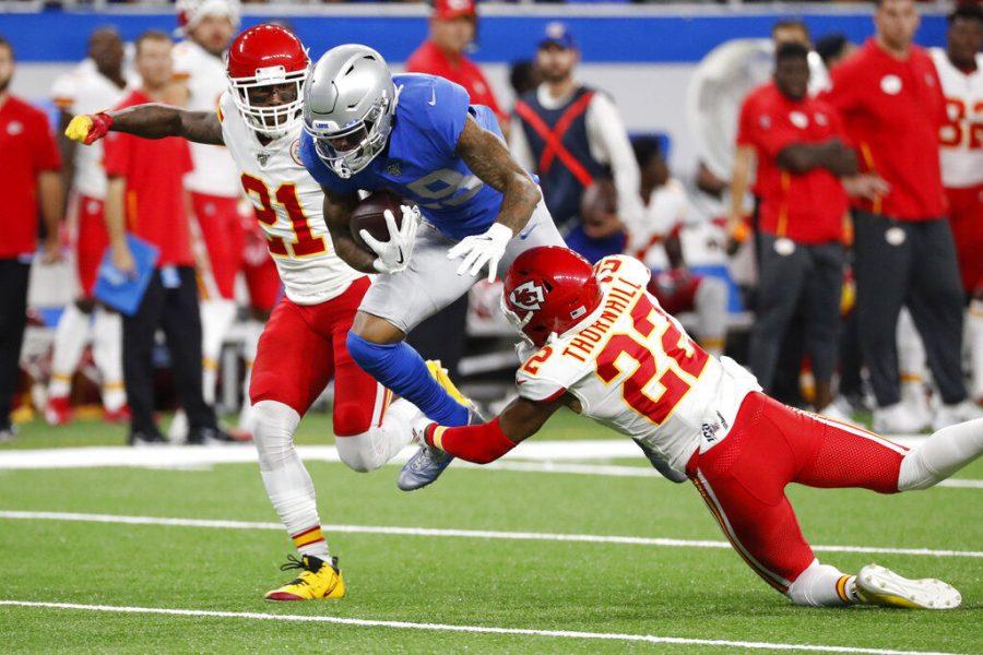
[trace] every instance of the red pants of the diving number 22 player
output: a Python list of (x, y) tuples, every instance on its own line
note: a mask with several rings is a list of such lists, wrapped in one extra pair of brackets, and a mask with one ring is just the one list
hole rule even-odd
[(686, 474), (744, 561), (785, 593), (815, 559), (785, 486), (898, 490), (908, 449), (762, 393), (744, 400), (726, 439), (694, 453)]

